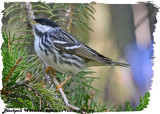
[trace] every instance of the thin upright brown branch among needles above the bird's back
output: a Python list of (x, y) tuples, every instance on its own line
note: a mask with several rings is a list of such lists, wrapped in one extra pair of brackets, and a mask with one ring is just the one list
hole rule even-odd
[(70, 4), (70, 11), (69, 11), (69, 22), (68, 22), (68, 33), (71, 33), (71, 27), (72, 27), (72, 19), (73, 19), (73, 3)]

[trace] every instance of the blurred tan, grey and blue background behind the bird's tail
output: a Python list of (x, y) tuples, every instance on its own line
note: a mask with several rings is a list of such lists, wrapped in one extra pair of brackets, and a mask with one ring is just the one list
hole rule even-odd
[[(13, 3), (5, 3), (5, 9)], [(105, 104), (108, 101), (124, 106), (130, 101), (132, 106), (139, 104), (140, 95), (151, 89), (152, 84), (152, 58), (153, 58), (153, 32), (156, 24), (155, 8), (150, 3), (138, 4), (99, 4), (93, 5), (95, 20), (87, 20), (93, 29), (89, 31), (72, 27), (71, 34), (77, 33), (77, 39), (90, 46), (106, 57), (115, 61), (126, 62), (130, 67), (91, 67), (87, 70), (95, 73), (89, 76), (99, 77), (93, 86), (101, 92), (98, 101)], [(15, 12), (16, 13), (16, 12)], [(58, 12), (60, 13), (60, 12)], [(8, 24), (10, 14), (3, 17), (3, 25), (14, 33), (14, 20)], [(36, 18), (47, 17), (47, 14), (37, 14)], [(4, 27), (3, 26), (3, 27)], [(60, 25), (61, 26), (61, 25)], [(21, 34), (21, 33), (18, 33)]]

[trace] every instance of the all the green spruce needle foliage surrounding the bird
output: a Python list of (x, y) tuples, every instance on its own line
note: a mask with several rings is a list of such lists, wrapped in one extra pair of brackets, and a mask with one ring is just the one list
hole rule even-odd
[[(93, 31), (88, 25), (88, 19), (94, 19), (95, 12), (92, 4), (63, 4), (44, 2), (30, 3), (31, 9), (26, 7), (26, 3), (12, 3), (4, 10), (4, 16), (10, 16), (8, 21), (15, 23), (15, 31), (11, 35), (9, 30), (3, 27), (3, 44), (1, 47), (3, 56), (1, 98), (8, 108), (28, 108), (29, 110), (41, 111), (72, 111), (67, 108), (59, 92), (55, 90), (52, 77), (45, 74), (45, 65), (37, 57), (32, 46), (34, 40), (32, 29), (26, 17), (30, 17), (30, 10), (34, 15), (45, 15), (47, 18), (61, 25), (68, 32), (72, 26), (80, 30), (84, 28)], [(17, 35), (21, 33), (22, 35)], [(77, 34), (74, 34), (78, 36)], [(86, 112), (115, 111), (115, 106), (111, 103), (101, 105), (96, 101), (97, 96), (93, 91), (98, 91), (92, 87), (95, 77), (87, 77), (91, 71), (81, 71), (63, 86), (69, 103), (79, 107)], [(59, 82), (65, 80), (67, 75), (56, 73)], [(149, 93), (140, 99), (141, 104), (136, 110), (142, 110), (148, 104)], [(120, 110), (119, 108), (118, 111)], [(129, 103), (126, 104), (126, 111), (135, 110)]]

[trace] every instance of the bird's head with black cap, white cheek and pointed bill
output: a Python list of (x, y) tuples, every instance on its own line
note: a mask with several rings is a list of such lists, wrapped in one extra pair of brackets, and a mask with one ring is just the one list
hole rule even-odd
[(34, 29), (37, 29), (42, 33), (50, 31), (56, 27), (59, 27), (56, 23), (46, 18), (32, 19), (27, 17), (27, 19), (33, 23)]

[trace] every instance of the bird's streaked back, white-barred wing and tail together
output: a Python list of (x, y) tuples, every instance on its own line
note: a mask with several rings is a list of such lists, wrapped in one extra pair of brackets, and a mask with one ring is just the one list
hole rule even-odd
[(60, 28), (58, 29), (57, 34), (54, 33), (51, 36), (51, 40), (57, 50), (75, 54), (82, 58), (86, 58), (89, 61), (95, 61), (106, 65), (128, 66), (128, 64), (112, 61), (112, 59), (99, 54), (90, 47), (80, 43), (69, 33)]

